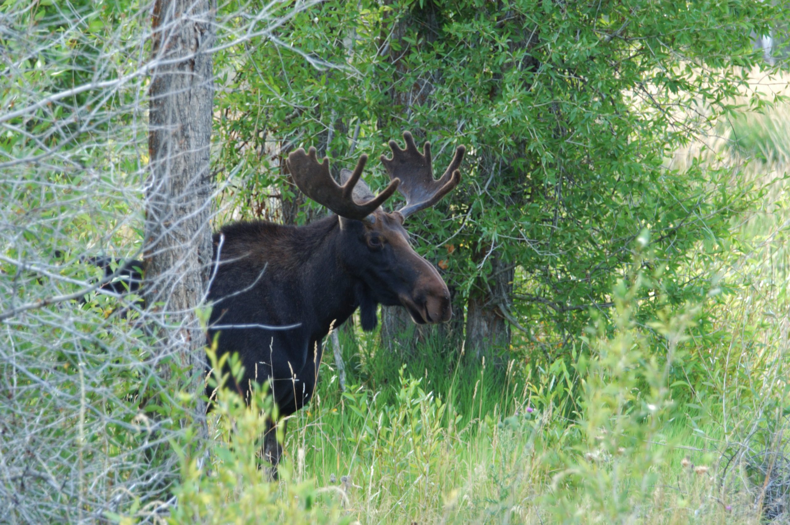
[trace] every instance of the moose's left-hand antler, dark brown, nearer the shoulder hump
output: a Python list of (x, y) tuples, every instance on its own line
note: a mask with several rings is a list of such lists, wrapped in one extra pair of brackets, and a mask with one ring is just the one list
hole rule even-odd
[[(367, 155), (359, 157), (354, 172), (343, 186), (338, 186), (332, 175), (329, 174), (329, 159), (325, 158), (323, 163), (318, 163), (318, 159), (315, 157), (315, 148), (310, 148), (307, 153), (303, 148), (299, 148), (288, 155), (285, 163), (288, 164), (288, 171), (291, 172), (296, 186), (299, 186), (302, 193), (346, 219), (362, 220), (370, 215), (395, 193), (401, 182), (397, 178), (393, 178), (392, 182), (389, 182), (389, 186), (378, 194), (378, 197), (373, 197), (364, 203), (357, 203), (353, 196), (354, 186), (362, 176), (365, 163), (367, 163)], [(359, 192), (357, 193), (359, 194)]]

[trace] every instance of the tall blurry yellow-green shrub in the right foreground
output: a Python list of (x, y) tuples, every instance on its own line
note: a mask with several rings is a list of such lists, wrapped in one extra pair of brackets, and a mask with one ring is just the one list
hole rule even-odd
[[(667, 343), (667, 354), (657, 356), (649, 344), (653, 338), (634, 322), (634, 307), (644, 287), (641, 275), (630, 287), (619, 283), (614, 335), (607, 338), (608, 330), (599, 320), (584, 338), (589, 358), (583, 356), (577, 363), (583, 377), (578, 420), (583, 437), (575, 447), (577, 454), (570, 456), (566, 475), (580, 483), (596, 512), (609, 520), (634, 512), (656, 485), (656, 467), (663, 463), (664, 451), (651, 450), (649, 443), (672, 413), (668, 371), (694, 318), (693, 313), (683, 313), (649, 323)], [(570, 501), (564, 503), (563, 510), (570, 510)]]

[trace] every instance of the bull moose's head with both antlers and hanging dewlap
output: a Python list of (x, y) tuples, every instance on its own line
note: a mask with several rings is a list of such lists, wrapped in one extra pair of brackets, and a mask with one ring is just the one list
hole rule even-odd
[[(381, 156), (389, 173), (389, 186), (374, 196), (360, 180), (367, 155), (359, 157), (354, 171), (340, 171), (342, 186), (329, 174), (329, 160), (316, 158), (315, 148), (299, 148), (288, 156), (288, 169), (296, 186), (313, 201), (338, 216), (341, 243), (340, 263), (357, 280), (362, 327), (376, 326), (376, 306), (404, 306), (417, 324), (450, 321), (450, 291), (431, 263), (420, 257), (409, 243), (404, 222), (413, 213), (433, 206), (461, 181), (458, 167), (465, 147), (456, 148), (450, 166), (434, 179), (431, 143), (420, 153), (411, 133), (404, 132), (406, 148), (389, 141), (392, 158)], [(382, 204), (399, 190), (406, 204), (386, 212)]]

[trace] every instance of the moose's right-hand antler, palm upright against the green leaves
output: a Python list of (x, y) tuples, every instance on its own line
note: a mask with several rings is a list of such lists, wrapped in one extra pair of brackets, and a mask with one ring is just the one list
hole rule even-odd
[(389, 148), (393, 150), (393, 158), (387, 159), (381, 156), (382, 163), (389, 173), (389, 178), (393, 181), (400, 179), (401, 186), (398, 189), (406, 197), (406, 205), (398, 210), (404, 219), (419, 210), (430, 208), (438, 201), (442, 200), (450, 190), (461, 182), (461, 161), (464, 159), (466, 148), (458, 146), (455, 149), (455, 156), (447, 171), (442, 178), (434, 180), (434, 171), (431, 163), (431, 143), (426, 142), (423, 146), (423, 154), (417, 151), (417, 144), (414, 143), (412, 133), (404, 131), (404, 141), (406, 149), (401, 149), (397, 142), (389, 141)]

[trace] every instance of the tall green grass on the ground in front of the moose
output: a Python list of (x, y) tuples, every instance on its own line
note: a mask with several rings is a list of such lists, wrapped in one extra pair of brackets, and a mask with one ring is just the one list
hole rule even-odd
[[(549, 383), (561, 384), (554, 379)], [(332, 520), (360, 523), (587, 523), (628, 515), (609, 497), (614, 489), (625, 494), (626, 508), (637, 509), (639, 523), (690, 523), (701, 515), (699, 523), (732, 523), (733, 516), (749, 523), (754, 515), (743, 487), (718, 486), (720, 428), (692, 428), (682, 411), (641, 435), (644, 441), (625, 437), (620, 442), (633, 446), (607, 454), (600, 452), (605, 433), (602, 441), (587, 439), (584, 424), (559, 417), (554, 406), (529, 413), (524, 410), (532, 406), (529, 396), (491, 395), (480, 403), (476, 392), (465, 391), (453, 408), (421, 388), (423, 381), (424, 376), (402, 377), (386, 402), (361, 386), (342, 396), (328, 388), (319, 392), (315, 403), (288, 423), (288, 454), (281, 465), (285, 482), (273, 501), (314, 497), (311, 512), (318, 508)], [(521, 410), (502, 411), (509, 403)], [(461, 424), (458, 407), (483, 417)], [(248, 444), (246, 438), (260, 428), (238, 414), (228, 419), (237, 433), (224, 435), (229, 442)], [(243, 475), (216, 495), (215, 508), (243, 500), (239, 491), (269, 485), (249, 467), (249, 447), (234, 452), (238, 456), (226, 457), (224, 467)], [(630, 468), (645, 464), (656, 474), (649, 486), (638, 482), (642, 471)], [(616, 469), (626, 474), (622, 482), (610, 478), (596, 486)], [(205, 523), (213, 523), (206, 516)], [(317, 519), (299, 505), (268, 516)], [(241, 523), (255, 523), (253, 518), (260, 515), (246, 515)]]

